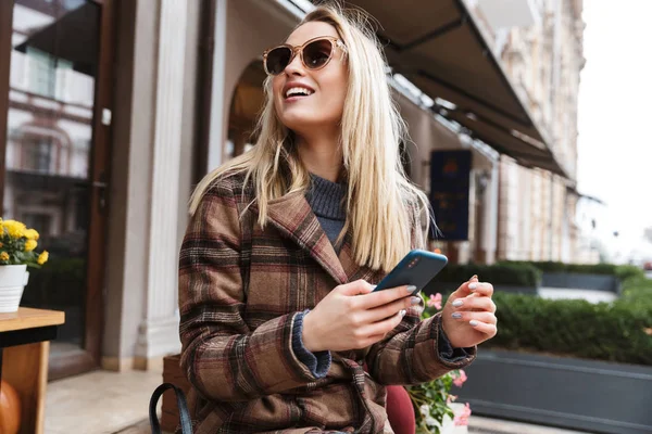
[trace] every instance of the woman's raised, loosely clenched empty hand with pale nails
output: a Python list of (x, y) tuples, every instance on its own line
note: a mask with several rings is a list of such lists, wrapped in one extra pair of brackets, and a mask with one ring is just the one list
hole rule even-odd
[(493, 285), (474, 276), (452, 293), (442, 310), (441, 327), (454, 348), (478, 345), (498, 331)]

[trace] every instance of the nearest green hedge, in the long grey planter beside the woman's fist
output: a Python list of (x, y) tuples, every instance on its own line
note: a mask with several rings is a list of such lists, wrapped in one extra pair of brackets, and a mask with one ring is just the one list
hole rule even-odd
[(652, 365), (652, 280), (639, 270), (623, 286), (599, 304), (496, 293), (499, 332), (482, 346)]

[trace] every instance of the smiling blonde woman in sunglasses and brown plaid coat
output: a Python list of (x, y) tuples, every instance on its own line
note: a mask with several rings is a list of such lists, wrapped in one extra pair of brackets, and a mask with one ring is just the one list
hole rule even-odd
[(428, 207), (355, 14), (317, 8), (265, 52), (256, 145), (191, 199), (179, 306), (197, 433), (390, 433), (384, 385), (462, 368), (496, 334), (476, 277), (422, 322), (412, 289), (372, 292), (423, 247)]

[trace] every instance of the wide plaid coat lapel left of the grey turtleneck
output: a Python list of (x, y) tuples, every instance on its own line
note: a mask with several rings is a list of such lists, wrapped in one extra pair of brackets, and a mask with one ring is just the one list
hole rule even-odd
[(269, 201), (267, 218), (284, 237), (306, 251), (338, 284), (349, 281), (330, 240), (302, 193)]

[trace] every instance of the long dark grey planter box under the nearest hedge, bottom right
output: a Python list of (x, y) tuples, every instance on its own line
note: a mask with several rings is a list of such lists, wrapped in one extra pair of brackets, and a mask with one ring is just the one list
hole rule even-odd
[(652, 367), (479, 348), (465, 371), (468, 381), (457, 395), (474, 414), (592, 433), (652, 433)]

